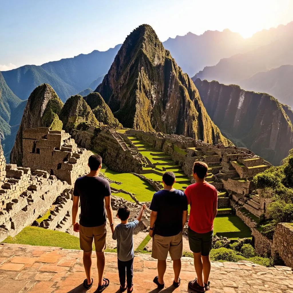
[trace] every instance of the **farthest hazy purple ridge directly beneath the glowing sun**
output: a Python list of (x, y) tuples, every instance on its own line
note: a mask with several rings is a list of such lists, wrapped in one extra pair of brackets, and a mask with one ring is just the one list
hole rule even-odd
[(292, 27), (293, 22), (279, 25), (277, 28), (257, 32), (247, 39), (228, 29), (222, 32), (208, 30), (202, 35), (189, 32), (184, 36), (168, 38), (163, 45), (170, 51), (183, 72), (193, 76), (204, 67), (217, 64), (220, 59), (254, 50), (290, 35)]

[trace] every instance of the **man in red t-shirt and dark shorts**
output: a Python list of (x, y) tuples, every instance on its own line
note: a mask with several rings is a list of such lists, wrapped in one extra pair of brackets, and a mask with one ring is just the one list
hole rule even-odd
[(217, 189), (205, 181), (207, 170), (206, 163), (196, 161), (193, 165), (193, 178), (196, 183), (189, 185), (185, 190), (190, 204), (188, 241), (193, 252), (197, 275), (197, 279), (190, 281), (188, 286), (197, 292), (209, 290), (209, 252), (212, 249), (214, 218), (217, 215), (218, 203)]

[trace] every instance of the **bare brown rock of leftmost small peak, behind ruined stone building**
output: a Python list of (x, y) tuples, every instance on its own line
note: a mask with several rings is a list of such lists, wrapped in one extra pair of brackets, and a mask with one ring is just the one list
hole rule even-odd
[[(53, 99), (59, 101), (57, 94), (53, 88), (48, 84), (42, 84), (35, 88), (28, 98), (28, 102), (23, 111), (21, 124), (16, 134), (16, 139), (12, 151), (10, 153), (10, 162), (22, 166), (22, 132), (30, 127), (42, 127), (44, 123), (49, 123), (44, 117), (45, 110), (49, 112), (47, 107), (48, 102)], [(50, 105), (50, 103), (49, 103)], [(52, 110), (52, 109), (51, 109)], [(48, 114), (51, 114), (49, 112)], [(53, 120), (52, 120), (53, 122)], [(47, 125), (46, 125), (47, 126)]]

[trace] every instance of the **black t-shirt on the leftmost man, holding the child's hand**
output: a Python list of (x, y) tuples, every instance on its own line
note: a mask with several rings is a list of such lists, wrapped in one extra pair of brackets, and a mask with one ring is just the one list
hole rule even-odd
[(74, 196), (80, 198), (80, 221), (84, 227), (96, 227), (105, 224), (106, 211), (104, 197), (111, 195), (108, 180), (97, 177), (82, 176), (76, 179)]

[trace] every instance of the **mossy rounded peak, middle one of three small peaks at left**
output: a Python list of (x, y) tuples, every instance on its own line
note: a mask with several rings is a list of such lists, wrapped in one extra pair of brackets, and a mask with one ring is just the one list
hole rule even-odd
[(64, 104), (59, 118), (63, 122), (63, 129), (71, 132), (72, 129), (83, 122), (92, 126), (98, 126), (98, 121), (90, 106), (80, 95), (71, 96)]

